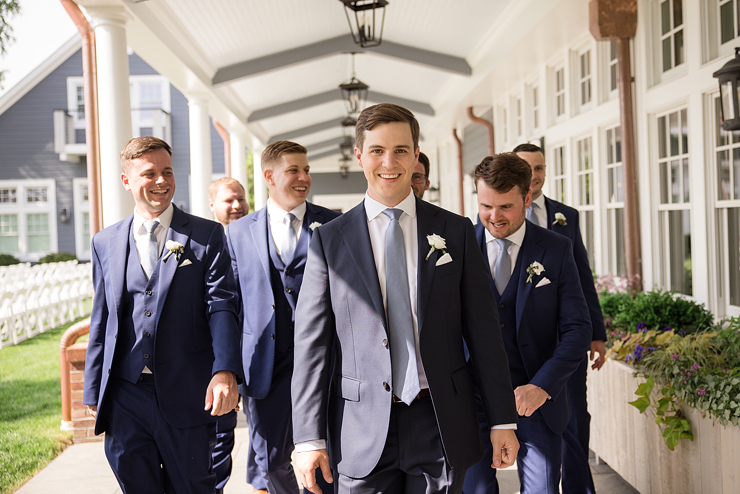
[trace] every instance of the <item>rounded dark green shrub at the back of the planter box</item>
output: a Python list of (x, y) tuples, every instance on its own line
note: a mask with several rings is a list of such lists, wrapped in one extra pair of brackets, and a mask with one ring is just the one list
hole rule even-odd
[(704, 304), (673, 295), (662, 290), (638, 293), (629, 304), (619, 305), (612, 324), (628, 333), (640, 328), (672, 328), (679, 334), (696, 333), (714, 324), (712, 313)]

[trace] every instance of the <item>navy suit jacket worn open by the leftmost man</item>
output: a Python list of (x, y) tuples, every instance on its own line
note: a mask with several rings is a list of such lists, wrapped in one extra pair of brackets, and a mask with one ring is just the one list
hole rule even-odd
[[(106, 391), (121, 323), (121, 298), (133, 215), (92, 237), (90, 342), (85, 361), (84, 404), (98, 405), (95, 434), (107, 428)], [(223, 227), (175, 207), (167, 240), (185, 252), (160, 261), (154, 379), (159, 407), (173, 427), (216, 421), (203, 410), (212, 376), (229, 370), (241, 381), (238, 296)], [(163, 256), (164, 257), (164, 256)], [(191, 264), (178, 267), (188, 259)]]

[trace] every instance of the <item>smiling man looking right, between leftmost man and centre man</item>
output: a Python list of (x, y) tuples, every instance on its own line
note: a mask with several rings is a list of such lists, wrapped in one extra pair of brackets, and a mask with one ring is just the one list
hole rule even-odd
[(241, 294), (242, 362), (249, 421), (246, 481), (258, 494), (298, 494), (290, 382), (295, 306), (314, 228), (340, 216), (306, 201), (305, 147), (277, 141), (262, 152), (266, 207), (229, 224), (229, 251)]

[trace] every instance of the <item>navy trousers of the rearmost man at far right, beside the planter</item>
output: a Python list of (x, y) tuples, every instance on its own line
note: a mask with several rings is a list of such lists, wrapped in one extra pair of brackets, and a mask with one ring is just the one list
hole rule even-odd
[(586, 402), (588, 357), (584, 357), (576, 372), (568, 379), (571, 420), (562, 433), (562, 492), (595, 494), (591, 467), (588, 466), (588, 436), (591, 414)]

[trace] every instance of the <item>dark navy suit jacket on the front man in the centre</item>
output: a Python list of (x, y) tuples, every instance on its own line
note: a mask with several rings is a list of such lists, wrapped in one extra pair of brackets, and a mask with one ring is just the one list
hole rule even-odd
[[(483, 454), (463, 338), (489, 424), (516, 423), (517, 410), (473, 225), (419, 198), (416, 204), (421, 359), (445, 455), (461, 472)], [(425, 260), (433, 233), (445, 238), (451, 262), (435, 266), (439, 250)], [(392, 381), (387, 339), (363, 201), (314, 230), (298, 297), (292, 380), (294, 441), (327, 439), (332, 467), (349, 477), (368, 475), (386, 443)]]

